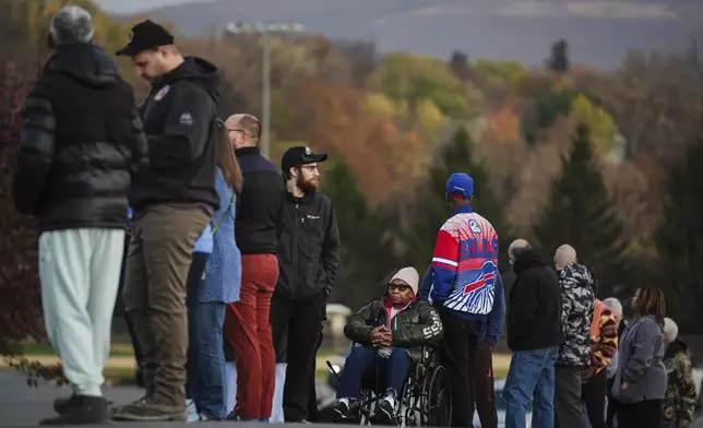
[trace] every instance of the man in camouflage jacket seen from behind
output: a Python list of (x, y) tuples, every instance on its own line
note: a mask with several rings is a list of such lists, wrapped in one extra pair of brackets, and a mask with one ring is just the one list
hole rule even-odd
[(595, 301), (594, 281), (588, 269), (576, 263), (576, 251), (559, 247), (555, 265), (561, 288), (561, 328), (564, 344), (555, 365), (555, 426), (585, 426), (581, 370), (591, 357), (591, 320)]

